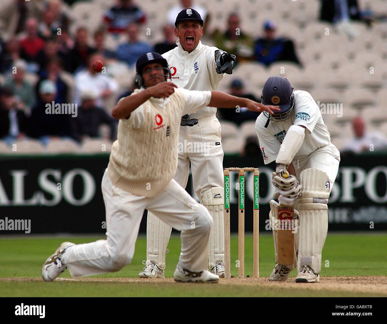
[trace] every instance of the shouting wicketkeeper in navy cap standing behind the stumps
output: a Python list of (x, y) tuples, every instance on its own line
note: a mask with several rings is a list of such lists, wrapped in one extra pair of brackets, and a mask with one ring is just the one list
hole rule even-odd
[[(164, 53), (171, 69), (171, 80), (188, 90), (217, 90), (225, 73), (231, 74), (235, 56), (216, 47), (202, 44), (203, 23), (200, 14), (183, 9), (175, 20), (176, 48)], [(223, 149), (221, 125), (216, 118), (216, 108), (207, 106), (200, 111), (183, 116), (179, 143), (206, 143), (207, 152), (179, 152), (175, 180), (187, 186), (189, 165), (195, 193), (214, 218), (211, 232), (209, 268), (219, 276), (224, 275), (224, 224), (223, 224)], [(214, 199), (216, 197), (216, 199)], [(171, 227), (159, 221), (151, 212), (147, 220), (147, 256), (140, 278), (164, 277), (165, 254)]]

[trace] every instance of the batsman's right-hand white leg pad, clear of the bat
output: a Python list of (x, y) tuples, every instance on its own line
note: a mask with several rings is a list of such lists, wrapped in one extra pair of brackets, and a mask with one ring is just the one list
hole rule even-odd
[(300, 212), (300, 242), (297, 268), (310, 266), (315, 273), (321, 271), (321, 252), (328, 232), (329, 177), (321, 169), (306, 169), (300, 174), (303, 185), (298, 198)]

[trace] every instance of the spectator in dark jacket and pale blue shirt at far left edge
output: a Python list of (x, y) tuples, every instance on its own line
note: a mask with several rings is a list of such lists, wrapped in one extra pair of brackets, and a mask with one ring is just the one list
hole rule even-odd
[(10, 87), (0, 89), (0, 138), (11, 145), (28, 132), (28, 119), (19, 109)]

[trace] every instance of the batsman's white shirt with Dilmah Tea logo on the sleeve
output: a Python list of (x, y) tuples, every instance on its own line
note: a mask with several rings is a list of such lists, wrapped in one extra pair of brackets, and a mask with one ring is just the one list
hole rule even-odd
[(265, 164), (276, 160), (281, 143), (291, 125), (305, 126), (305, 138), (294, 159), (300, 159), (313, 153), (320, 147), (330, 144), (330, 135), (325, 126), (312, 95), (303, 90), (294, 92), (295, 105), (292, 116), (285, 121), (270, 121), (260, 114), (255, 122), (255, 130)]

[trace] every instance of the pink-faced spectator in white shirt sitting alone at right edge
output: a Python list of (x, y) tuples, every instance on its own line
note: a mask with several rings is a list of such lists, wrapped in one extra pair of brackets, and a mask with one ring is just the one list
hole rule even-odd
[(387, 150), (387, 138), (378, 132), (366, 131), (365, 121), (361, 117), (356, 117), (352, 121), (354, 137), (349, 140), (342, 152), (362, 153), (377, 152)]

